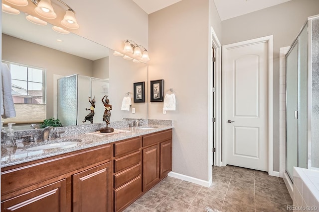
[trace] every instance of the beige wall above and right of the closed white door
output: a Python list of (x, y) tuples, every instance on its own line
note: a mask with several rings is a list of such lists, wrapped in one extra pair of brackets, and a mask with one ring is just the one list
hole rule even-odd
[(279, 48), (290, 46), (319, 0), (292, 0), (222, 21), (222, 45), (274, 35), (274, 171), (279, 171)]

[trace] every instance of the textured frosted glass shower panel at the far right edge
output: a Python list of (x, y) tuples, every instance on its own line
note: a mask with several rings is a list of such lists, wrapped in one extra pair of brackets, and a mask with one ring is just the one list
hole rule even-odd
[(312, 23), (311, 167), (319, 168), (319, 18)]

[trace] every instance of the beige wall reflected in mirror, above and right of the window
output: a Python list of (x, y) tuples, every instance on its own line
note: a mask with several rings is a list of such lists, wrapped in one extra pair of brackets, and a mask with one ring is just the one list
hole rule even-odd
[[(53, 74), (93, 76), (93, 61), (2, 34), (2, 60), (46, 69), (47, 118), (53, 117)], [(58, 61), (58, 63), (57, 63)]]

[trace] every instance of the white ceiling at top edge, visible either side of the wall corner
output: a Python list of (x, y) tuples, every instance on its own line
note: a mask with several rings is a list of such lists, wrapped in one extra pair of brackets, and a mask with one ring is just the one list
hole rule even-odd
[[(133, 0), (146, 13), (158, 11), (180, 0)], [(220, 19), (227, 20), (290, 0), (214, 0)]]

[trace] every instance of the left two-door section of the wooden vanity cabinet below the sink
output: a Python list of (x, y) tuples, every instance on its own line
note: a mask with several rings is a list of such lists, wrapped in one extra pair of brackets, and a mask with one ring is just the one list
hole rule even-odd
[(112, 212), (111, 156), (107, 144), (2, 168), (1, 211)]

